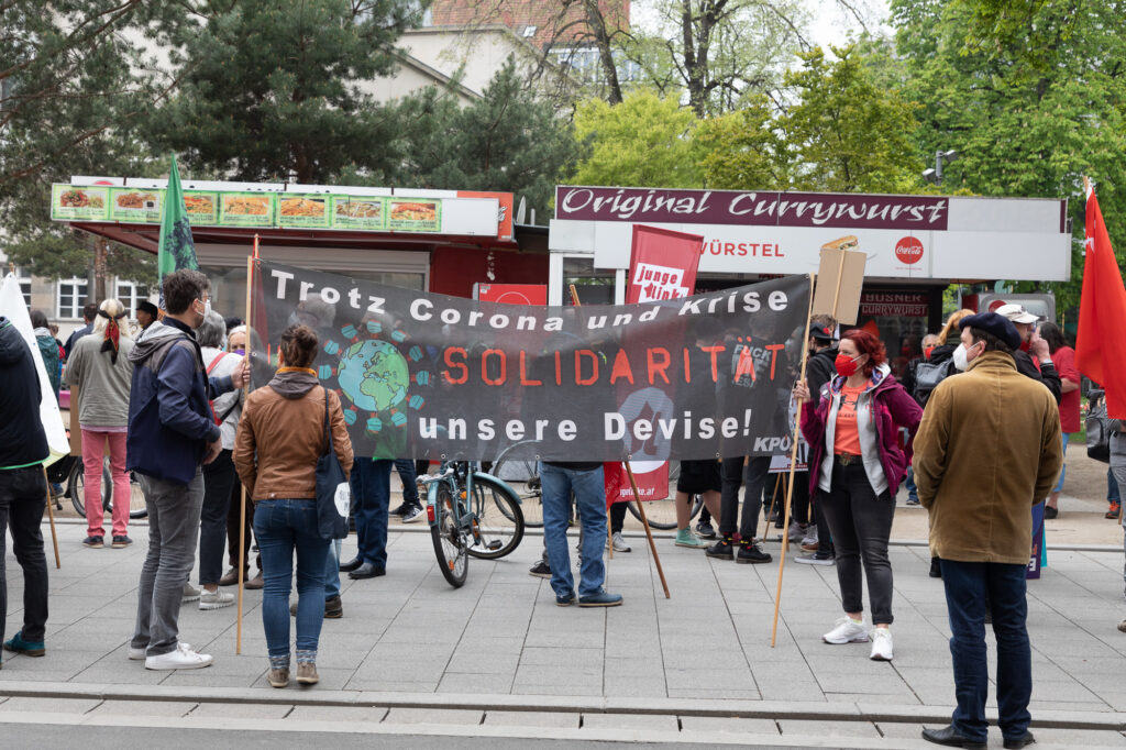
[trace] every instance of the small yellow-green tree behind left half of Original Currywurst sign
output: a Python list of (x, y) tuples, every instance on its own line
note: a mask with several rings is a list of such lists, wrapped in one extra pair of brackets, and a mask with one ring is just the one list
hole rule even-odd
[(570, 181), (622, 187), (701, 187), (694, 131), (696, 115), (676, 99), (636, 91), (611, 106), (599, 99), (581, 102), (575, 135), (590, 153)]

